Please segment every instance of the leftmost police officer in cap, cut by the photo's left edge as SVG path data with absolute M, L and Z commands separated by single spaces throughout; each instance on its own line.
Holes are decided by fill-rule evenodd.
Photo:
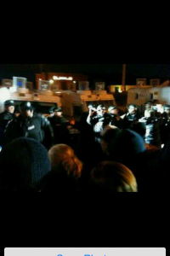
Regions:
M 8 122 L 15 118 L 14 115 L 14 101 L 4 102 L 5 111 L 0 113 L 0 146 L 4 144 L 4 131 Z

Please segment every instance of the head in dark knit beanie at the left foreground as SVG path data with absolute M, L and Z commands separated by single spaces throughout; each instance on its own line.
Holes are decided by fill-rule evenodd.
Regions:
M 18 138 L 0 154 L 0 188 L 8 191 L 33 189 L 51 170 L 48 151 L 31 138 Z

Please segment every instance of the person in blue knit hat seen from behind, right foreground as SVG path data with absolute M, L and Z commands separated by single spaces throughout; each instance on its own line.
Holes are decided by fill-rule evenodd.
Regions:
M 147 150 L 144 139 L 135 131 L 126 129 L 121 131 L 108 148 L 110 160 L 127 166 L 137 178 L 139 190 L 145 185 L 145 171 L 147 170 Z

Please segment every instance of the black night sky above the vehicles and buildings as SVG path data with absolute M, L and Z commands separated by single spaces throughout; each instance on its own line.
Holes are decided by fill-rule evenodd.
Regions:
M 35 79 L 40 64 L 0 64 L 0 78 L 26 76 Z M 122 64 L 43 64 L 44 72 L 84 73 L 90 76 L 122 82 Z M 170 78 L 170 64 L 127 64 L 127 83 L 136 78 Z

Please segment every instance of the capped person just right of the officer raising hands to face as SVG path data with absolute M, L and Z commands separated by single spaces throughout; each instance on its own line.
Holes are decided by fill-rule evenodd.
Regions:
M 108 113 L 111 115 L 111 124 L 114 125 L 119 129 L 123 128 L 123 120 L 119 115 L 119 110 L 116 106 L 111 106 L 108 108 Z

